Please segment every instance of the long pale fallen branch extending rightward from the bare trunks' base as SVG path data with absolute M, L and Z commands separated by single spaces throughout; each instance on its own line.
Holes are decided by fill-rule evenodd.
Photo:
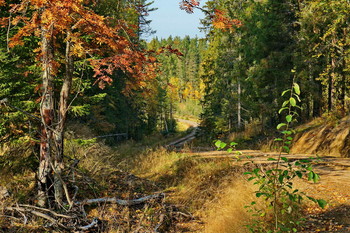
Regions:
M 133 199 L 133 200 L 121 200 L 117 199 L 115 197 L 105 197 L 105 198 L 96 198 L 96 199 L 88 199 L 85 201 L 77 201 L 75 204 L 77 205 L 88 205 L 88 204 L 96 204 L 96 203 L 115 203 L 118 205 L 123 205 L 123 206 L 133 206 L 133 205 L 138 205 L 141 203 L 144 203 L 146 201 L 152 200 L 152 199 L 157 199 L 157 198 L 164 198 L 164 193 L 157 193 L 145 197 L 141 197 L 138 199 Z

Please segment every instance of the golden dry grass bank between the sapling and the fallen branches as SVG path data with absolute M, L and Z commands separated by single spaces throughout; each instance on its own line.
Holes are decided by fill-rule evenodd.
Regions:
M 171 191 L 168 201 L 202 218 L 205 232 L 248 232 L 244 225 L 252 216 L 245 206 L 255 201 L 255 187 L 231 159 L 204 159 L 163 149 L 141 156 L 134 172 Z

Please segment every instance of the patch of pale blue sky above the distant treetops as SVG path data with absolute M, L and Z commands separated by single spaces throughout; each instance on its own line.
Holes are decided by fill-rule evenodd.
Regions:
M 188 14 L 179 8 L 180 0 L 154 0 L 151 7 L 158 10 L 150 12 L 148 19 L 152 20 L 151 27 L 157 32 L 147 39 L 152 37 L 168 38 L 171 36 L 184 37 L 204 37 L 204 34 L 199 31 L 200 19 L 204 17 L 200 10 L 195 10 L 193 14 Z M 201 6 L 205 0 L 200 1 Z

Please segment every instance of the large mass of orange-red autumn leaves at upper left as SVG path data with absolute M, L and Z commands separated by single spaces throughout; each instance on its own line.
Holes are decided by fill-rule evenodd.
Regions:
M 0 0 L 0 3 L 3 2 Z M 153 78 L 155 61 L 147 51 L 141 51 L 128 37 L 135 36 L 133 27 L 122 20 L 103 17 L 86 7 L 89 1 L 82 0 L 23 0 L 11 5 L 15 17 L 12 24 L 22 23 L 24 26 L 11 38 L 10 46 L 23 45 L 23 38 L 31 35 L 46 35 L 58 51 L 64 46 L 63 41 L 72 44 L 71 56 L 86 58 L 94 69 L 94 77 L 99 87 L 111 83 L 114 70 L 122 70 L 132 76 L 128 90 L 144 86 L 148 79 Z M 31 10 L 31 17 L 28 15 Z M 17 16 L 16 16 L 17 15 Z M 1 22 L 1 20 L 0 20 Z M 127 34 L 126 36 L 122 36 Z M 88 39 L 87 39 L 88 38 Z M 41 59 L 41 48 L 35 49 L 38 61 Z M 104 57 L 96 59 L 96 57 Z M 59 68 L 60 58 L 52 62 L 53 74 Z M 147 72 L 147 73 L 146 73 Z

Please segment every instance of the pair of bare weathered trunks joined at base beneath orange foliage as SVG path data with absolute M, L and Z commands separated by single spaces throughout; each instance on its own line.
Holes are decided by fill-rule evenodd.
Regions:
M 66 73 L 60 92 L 59 109 L 55 111 L 54 82 L 52 76 L 52 26 L 42 28 L 42 80 L 43 95 L 40 106 L 42 135 L 40 143 L 40 165 L 38 169 L 38 205 L 45 206 L 52 200 L 58 206 L 63 202 L 63 150 L 64 126 L 67 117 L 68 96 L 72 85 L 73 60 L 70 55 L 69 33 L 66 43 Z M 57 113 L 57 117 L 55 116 Z M 68 195 L 68 194 L 66 194 Z M 50 200 L 51 198 L 51 200 Z M 67 197 L 69 200 L 69 197 Z

